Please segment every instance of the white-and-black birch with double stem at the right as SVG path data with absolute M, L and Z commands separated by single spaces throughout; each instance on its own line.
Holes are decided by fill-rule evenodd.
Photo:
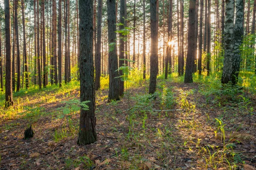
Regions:
M 226 0 L 222 84 L 231 83 L 232 85 L 236 85 L 238 82 L 241 56 L 239 47 L 244 35 L 243 9 L 243 0 L 236 0 L 236 20 L 234 25 L 234 0 Z

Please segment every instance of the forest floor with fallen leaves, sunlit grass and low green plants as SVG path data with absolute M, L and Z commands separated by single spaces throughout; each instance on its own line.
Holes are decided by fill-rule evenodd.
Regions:
M 16 93 L 0 110 L 0 170 L 256 170 L 255 94 L 171 78 L 155 96 L 140 80 L 129 96 L 130 108 L 96 91 L 98 141 L 79 146 L 78 82 Z

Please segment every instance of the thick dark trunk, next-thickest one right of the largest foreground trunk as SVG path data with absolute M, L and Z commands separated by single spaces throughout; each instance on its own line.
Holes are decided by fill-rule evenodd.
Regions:
M 118 79 L 118 58 L 116 49 L 116 0 L 107 0 L 108 13 L 108 71 L 109 71 L 109 91 L 108 102 L 119 100 Z

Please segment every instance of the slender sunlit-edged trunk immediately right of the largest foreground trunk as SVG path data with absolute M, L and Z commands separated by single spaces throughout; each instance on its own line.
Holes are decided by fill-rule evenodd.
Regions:
M 101 75 L 101 43 L 102 43 L 102 0 L 98 0 L 98 13 L 97 13 L 97 42 L 96 42 L 96 55 L 95 55 L 95 90 L 100 88 L 100 75 Z M 103 53 L 103 50 L 102 50 Z

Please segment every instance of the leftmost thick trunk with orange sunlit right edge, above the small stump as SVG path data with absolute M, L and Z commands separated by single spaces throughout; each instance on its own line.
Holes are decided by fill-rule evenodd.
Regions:
M 11 66 L 11 20 L 10 0 L 4 0 L 5 37 L 6 37 L 6 84 L 5 84 L 5 107 L 13 105 L 12 100 L 12 66 Z

